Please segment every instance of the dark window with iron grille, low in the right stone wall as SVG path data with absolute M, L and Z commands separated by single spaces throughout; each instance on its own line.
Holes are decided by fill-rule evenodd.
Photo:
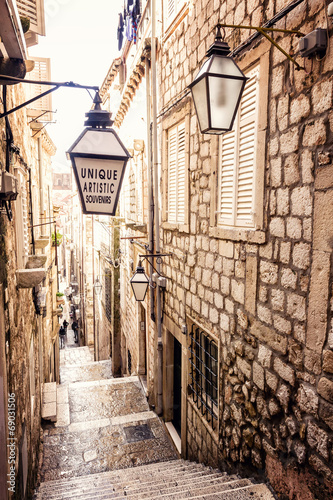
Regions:
M 190 388 L 193 401 L 207 422 L 217 426 L 218 348 L 197 325 L 190 332 Z

